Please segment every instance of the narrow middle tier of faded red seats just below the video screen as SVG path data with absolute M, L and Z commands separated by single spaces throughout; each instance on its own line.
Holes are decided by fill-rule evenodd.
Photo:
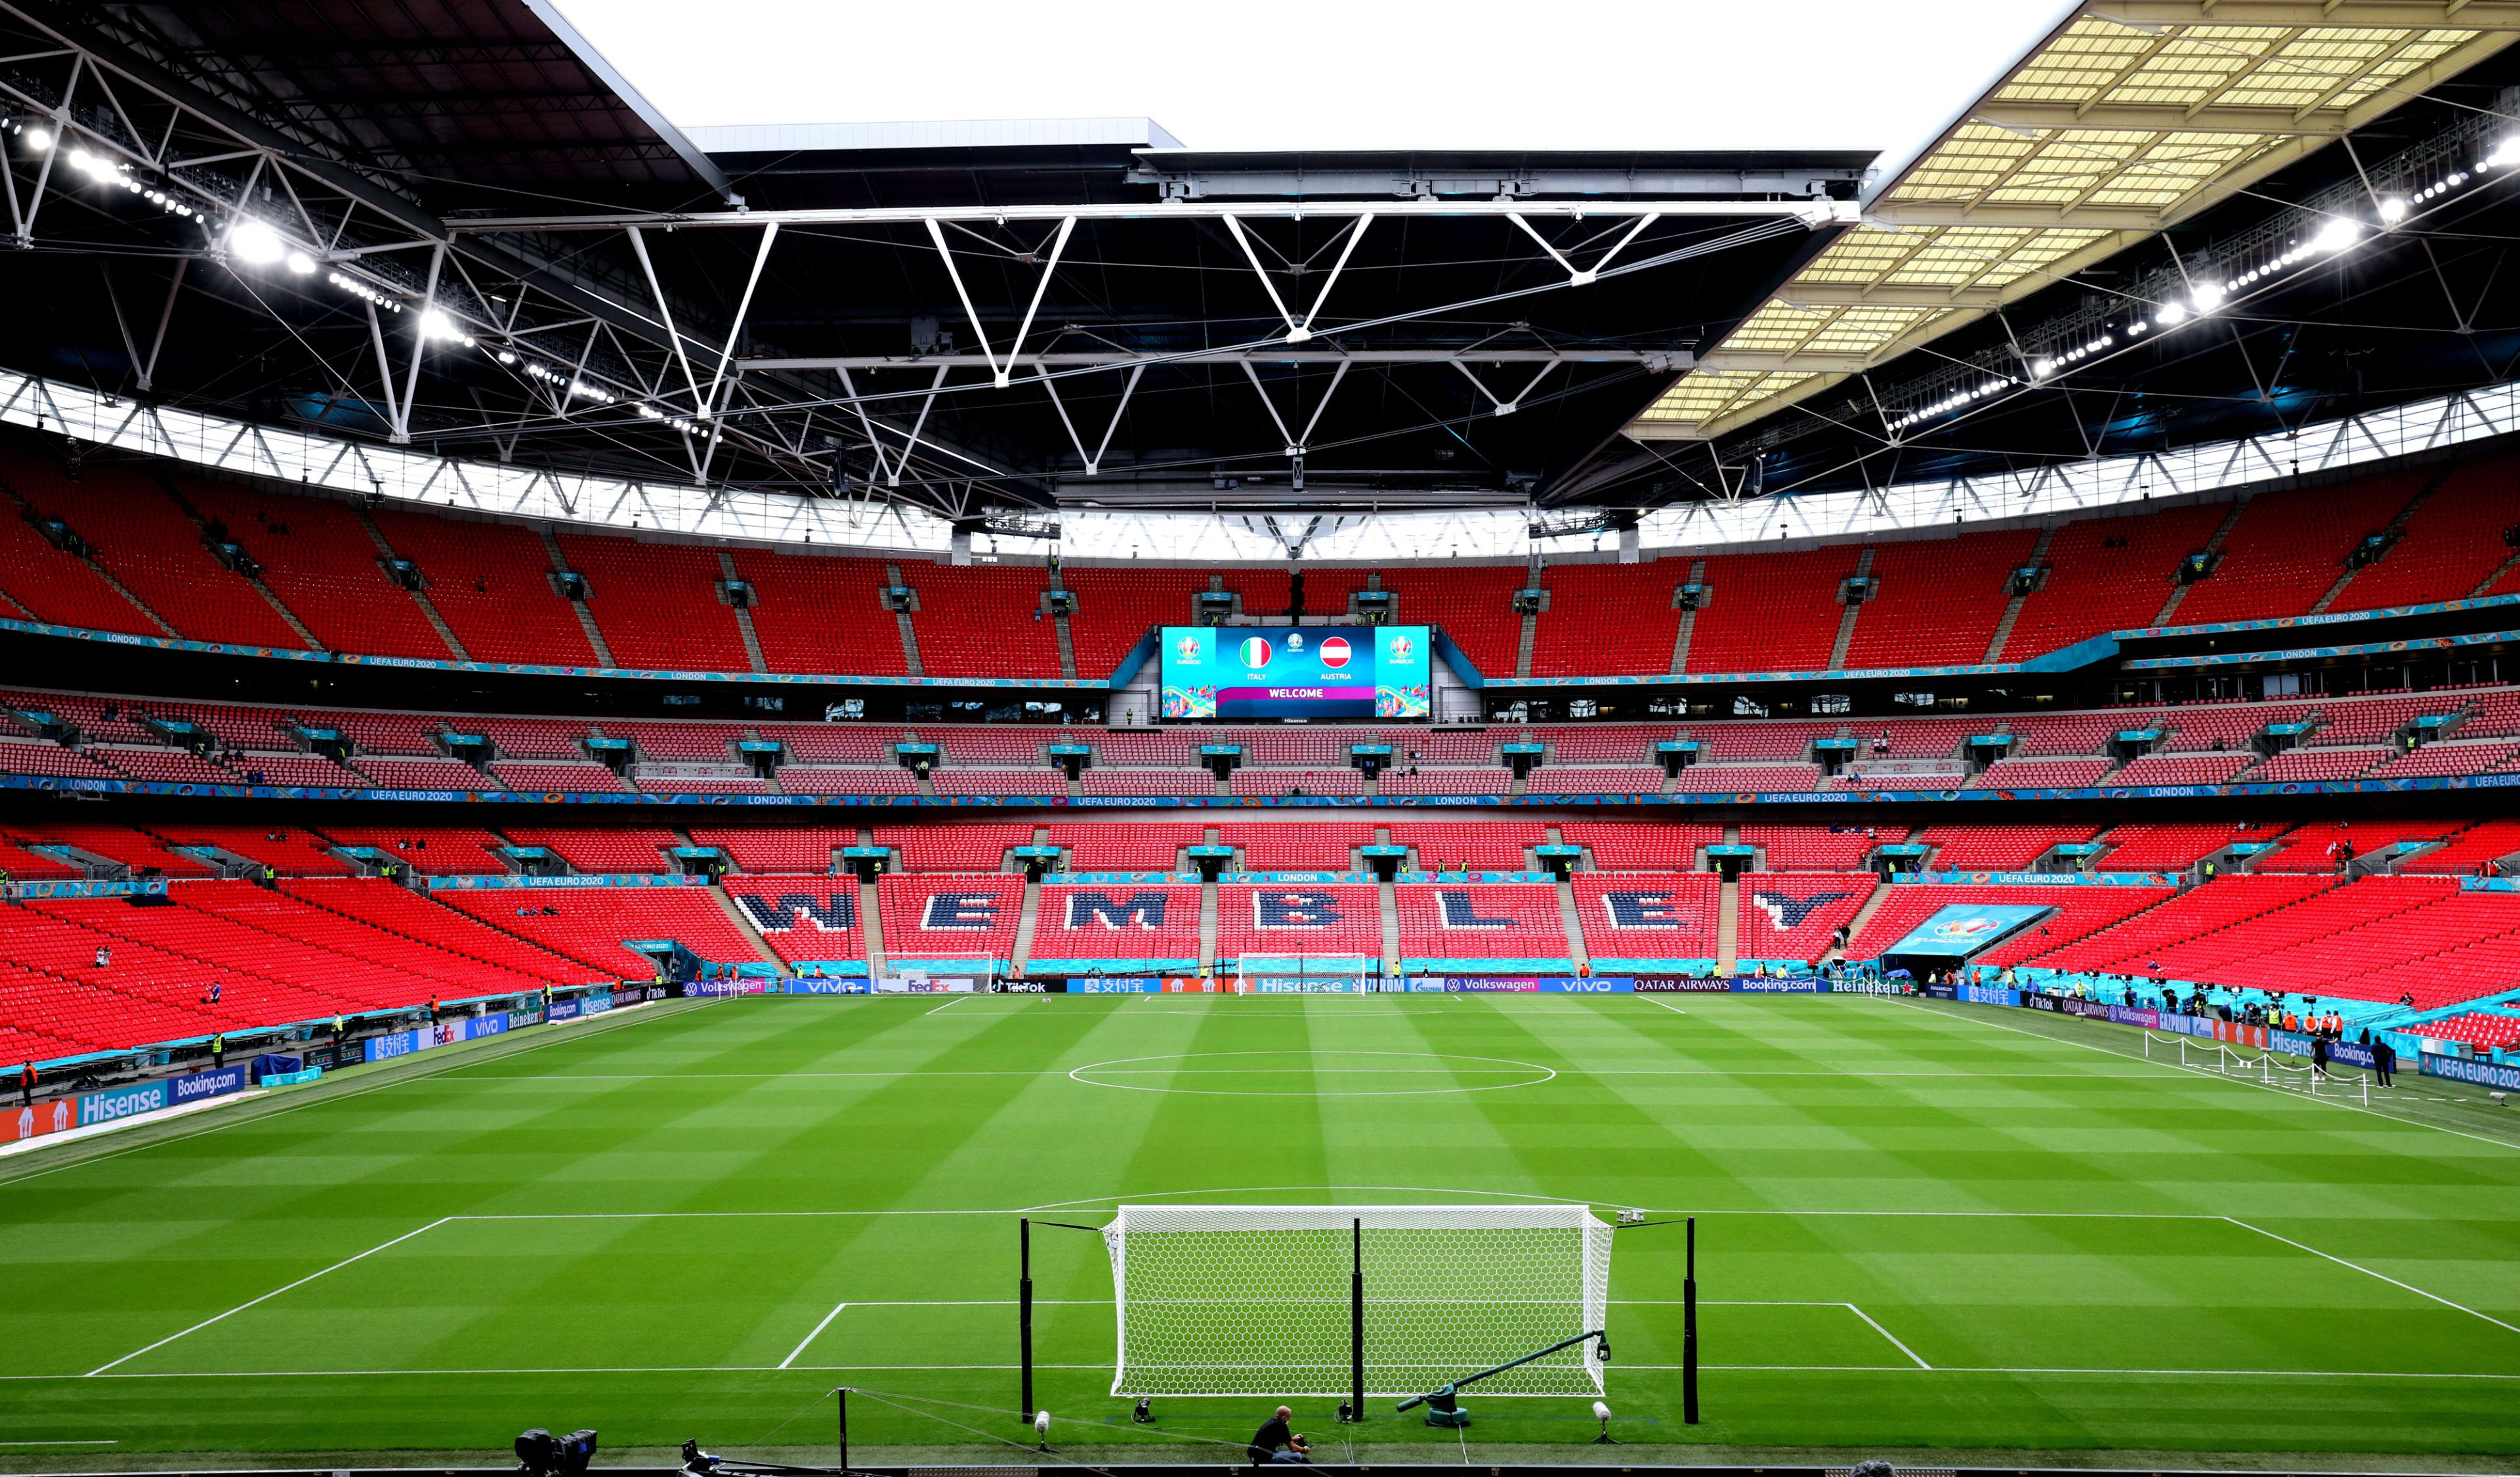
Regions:
M 345 791 L 1074 794 L 1245 802 L 2288 786 L 2510 774 L 2520 769 L 2520 736 L 2492 728 L 2520 726 L 2512 721 L 2520 711 L 2515 703 L 2515 688 L 2467 686 L 2318 701 L 1860 723 L 1688 718 L 1600 728 L 1520 723 L 1477 733 L 1389 723 L 1227 728 L 1220 736 L 1242 749 L 1242 766 L 1220 786 L 1194 761 L 1189 736 L 1179 731 L 1076 723 L 577 721 L 18 688 L 0 693 L 0 774 Z M 2145 738 L 2129 746 L 2124 733 Z M 912 741 L 937 751 L 922 771 L 905 769 L 895 756 L 897 744 Z M 1656 744 L 1673 741 L 1696 744 L 1698 761 L 1676 774 L 1635 761 L 1651 756 Z M 1051 764 L 1053 744 L 1089 751 L 1089 769 L 1079 781 Z M 1348 751 L 1368 744 L 1389 746 L 1396 769 L 1373 779 L 1351 769 Z M 1494 764 L 1504 744 L 1540 749 L 1520 781 Z M 1991 759 L 2013 746 L 2036 749 L 2039 756 Z M 756 759 L 764 761 L 759 769 Z M 1830 774 L 1824 761 L 1840 764 L 1840 771 Z

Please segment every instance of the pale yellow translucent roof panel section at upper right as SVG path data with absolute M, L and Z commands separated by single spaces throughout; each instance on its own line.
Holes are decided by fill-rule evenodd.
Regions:
M 2107 0 L 1862 197 L 1630 434 L 1714 439 L 2293 164 L 2520 35 L 2495 0 Z

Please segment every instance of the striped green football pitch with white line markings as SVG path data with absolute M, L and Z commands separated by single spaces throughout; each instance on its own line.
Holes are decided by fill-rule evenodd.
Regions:
M 1583 1202 L 1628 1459 L 2520 1449 L 2520 1127 L 1877 998 L 771 998 L 449 1049 L 0 1162 L 0 1464 L 456 1452 L 597 1427 L 859 1459 L 1023 1439 L 1016 1220 Z M 2379 1101 L 2386 1099 L 2386 1101 Z M 1200 1457 L 1257 1396 L 1109 1394 L 1101 1240 L 1036 1227 L 1053 1447 Z M 1358 1457 L 1575 1459 L 1590 1396 L 1376 1401 Z

